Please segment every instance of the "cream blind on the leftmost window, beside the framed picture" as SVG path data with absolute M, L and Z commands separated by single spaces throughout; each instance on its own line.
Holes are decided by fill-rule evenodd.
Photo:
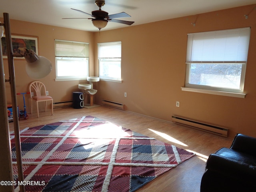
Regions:
M 89 43 L 55 40 L 55 56 L 89 58 Z

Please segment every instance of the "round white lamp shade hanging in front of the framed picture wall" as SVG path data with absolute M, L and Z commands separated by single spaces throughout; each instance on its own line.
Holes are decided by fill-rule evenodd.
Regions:
M 26 63 L 26 72 L 30 78 L 41 79 L 52 71 L 52 63 L 45 57 L 38 56 L 35 62 Z

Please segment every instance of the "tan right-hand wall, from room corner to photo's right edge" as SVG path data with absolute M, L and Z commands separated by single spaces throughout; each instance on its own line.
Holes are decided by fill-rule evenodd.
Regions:
M 256 5 L 96 33 L 95 42 L 122 41 L 122 83 L 100 81 L 96 101 L 121 102 L 126 110 L 171 121 L 172 115 L 256 136 Z M 253 11 L 252 11 L 253 10 Z M 250 13 L 248 19 L 245 14 Z M 191 23 L 196 23 L 194 27 Z M 251 27 L 246 98 L 184 92 L 187 34 Z M 95 46 L 95 51 L 97 51 Z M 95 54 L 95 63 L 97 63 Z M 97 71 L 97 70 L 96 70 Z M 97 75 L 97 74 L 96 74 Z M 127 98 L 124 97 L 127 92 Z M 180 107 L 176 107 L 176 101 Z

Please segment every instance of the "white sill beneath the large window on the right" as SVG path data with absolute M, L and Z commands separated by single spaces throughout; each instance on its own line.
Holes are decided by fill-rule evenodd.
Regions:
M 246 94 L 244 94 L 244 93 L 232 93 L 232 92 L 213 91 L 213 90 L 195 89 L 195 88 L 187 88 L 187 87 L 182 87 L 181 90 L 197 92 L 197 93 L 206 93 L 206 94 L 213 94 L 213 95 L 237 97 L 237 98 L 245 98 L 245 96 L 246 96 Z

